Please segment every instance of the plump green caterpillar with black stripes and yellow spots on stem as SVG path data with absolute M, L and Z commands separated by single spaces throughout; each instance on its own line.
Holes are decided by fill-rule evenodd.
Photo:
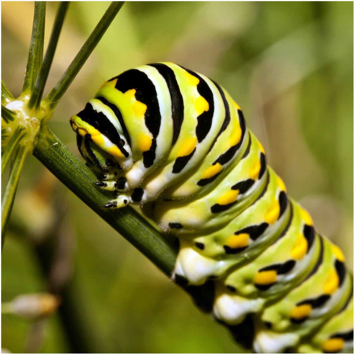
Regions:
M 258 353 L 353 352 L 353 277 L 267 165 L 219 84 L 171 62 L 105 82 L 70 119 L 77 147 L 115 191 L 179 239 L 172 278 L 209 283 L 213 316 Z M 242 334 L 248 325 L 251 334 Z

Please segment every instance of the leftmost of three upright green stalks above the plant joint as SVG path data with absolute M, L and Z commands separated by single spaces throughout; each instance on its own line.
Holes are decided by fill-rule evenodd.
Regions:
M 31 42 L 21 97 L 31 94 L 43 60 L 45 1 L 34 3 Z

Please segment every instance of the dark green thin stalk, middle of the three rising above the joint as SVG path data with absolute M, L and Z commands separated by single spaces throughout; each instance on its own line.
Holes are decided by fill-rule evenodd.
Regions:
M 43 95 L 43 91 L 44 91 L 44 86 L 45 86 L 45 83 L 47 82 L 48 73 L 49 73 L 50 66 L 53 61 L 55 49 L 56 49 L 57 43 L 58 43 L 59 34 L 62 29 L 64 17 L 65 17 L 66 11 L 68 9 L 68 6 L 69 6 L 69 2 L 67 2 L 67 1 L 61 1 L 59 3 L 58 11 L 56 13 L 56 17 L 55 17 L 54 24 L 53 24 L 52 33 L 51 33 L 51 36 L 49 39 L 48 48 L 47 48 L 46 54 L 44 56 L 41 69 L 39 71 L 39 75 L 36 79 L 34 89 L 31 94 L 31 98 L 29 99 L 29 102 L 28 102 L 28 107 L 30 109 L 33 107 L 35 109 L 39 108 L 40 101 L 42 99 L 42 95 Z

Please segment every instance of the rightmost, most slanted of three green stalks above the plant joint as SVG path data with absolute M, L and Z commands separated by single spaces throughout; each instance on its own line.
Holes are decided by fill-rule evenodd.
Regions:
M 54 110 L 58 104 L 61 97 L 66 92 L 67 88 L 71 82 L 76 77 L 77 73 L 80 71 L 81 67 L 84 65 L 88 59 L 91 52 L 94 50 L 99 40 L 106 32 L 110 23 L 113 21 L 119 10 L 121 9 L 124 1 L 111 2 L 104 16 L 101 18 L 94 31 L 91 33 L 87 41 L 84 43 L 83 47 L 80 49 L 79 53 L 73 59 L 68 69 L 65 71 L 63 76 L 60 78 L 55 87 L 51 90 L 48 96 L 43 100 L 43 105 L 48 110 Z

